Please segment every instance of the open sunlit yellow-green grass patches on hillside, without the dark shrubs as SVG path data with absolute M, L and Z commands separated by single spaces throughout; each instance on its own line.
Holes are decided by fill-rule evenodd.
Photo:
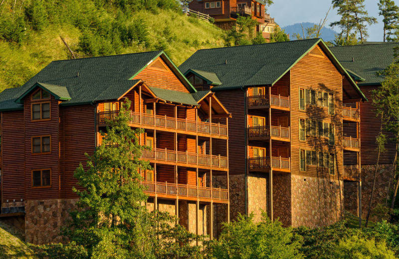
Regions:
M 159 14 L 143 10 L 137 12 L 136 17 L 146 20 L 152 46 L 156 46 L 160 39 L 168 42 L 167 52 L 177 65 L 200 48 L 223 46 L 222 38 L 225 32 L 207 21 L 198 20 L 193 23 L 187 16 L 169 10 L 161 10 Z M 167 26 L 173 39 L 164 37 Z M 72 49 L 76 49 L 81 31 L 72 24 L 50 25 L 42 32 L 29 31 L 27 40 L 20 46 L 0 41 L 0 91 L 21 86 L 52 60 L 67 59 L 68 53 L 59 38 L 60 35 Z M 193 44 L 194 41 L 197 44 Z M 124 48 L 122 53 L 149 50 L 155 50 L 155 47 L 143 49 L 134 45 Z

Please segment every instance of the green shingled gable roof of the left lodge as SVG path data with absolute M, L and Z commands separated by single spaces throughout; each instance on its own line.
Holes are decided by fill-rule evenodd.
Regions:
M 196 92 L 164 51 L 150 51 L 53 61 L 21 87 L 0 94 L 0 111 L 22 109 L 14 101 L 21 103 L 36 86 L 63 100 L 62 106 L 116 100 L 139 82 L 131 79 L 158 57 L 171 66 L 190 92 Z

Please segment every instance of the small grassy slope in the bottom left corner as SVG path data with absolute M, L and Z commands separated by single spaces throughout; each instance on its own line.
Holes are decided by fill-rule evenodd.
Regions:
M 0 221 L 0 259 L 36 259 L 20 238 L 21 233 Z

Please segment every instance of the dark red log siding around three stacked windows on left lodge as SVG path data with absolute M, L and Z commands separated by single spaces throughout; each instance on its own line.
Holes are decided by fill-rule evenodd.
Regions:
M 32 92 L 34 93 L 34 92 Z M 25 199 L 57 199 L 60 189 L 60 171 L 59 171 L 59 102 L 50 95 L 50 120 L 39 121 L 32 120 L 31 104 L 43 103 L 46 100 L 31 101 L 32 94 L 24 99 L 24 171 L 25 171 Z M 94 112 L 92 116 L 94 115 Z M 50 135 L 50 153 L 40 154 L 32 153 L 32 137 Z M 32 171 L 50 169 L 50 186 L 33 187 Z

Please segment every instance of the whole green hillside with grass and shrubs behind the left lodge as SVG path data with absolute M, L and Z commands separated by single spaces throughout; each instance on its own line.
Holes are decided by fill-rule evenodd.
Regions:
M 152 0 L 158 7 L 116 2 L 0 1 L 0 91 L 22 85 L 52 60 L 71 58 L 60 36 L 76 58 L 164 49 L 177 65 L 198 49 L 224 44 L 223 30 L 185 16 L 175 0 Z

